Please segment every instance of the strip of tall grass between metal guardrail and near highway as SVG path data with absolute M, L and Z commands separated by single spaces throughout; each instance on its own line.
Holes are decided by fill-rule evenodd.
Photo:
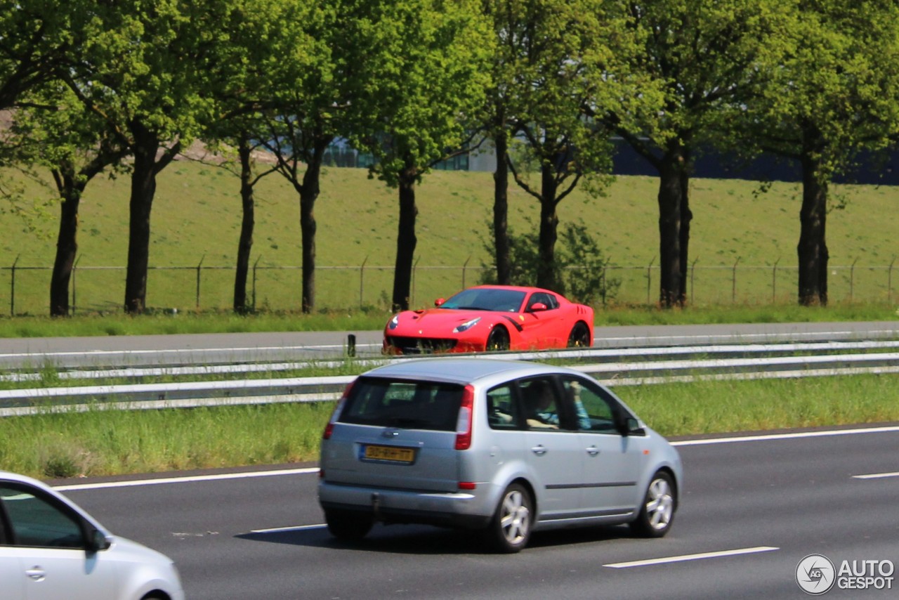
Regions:
M 616 390 L 666 436 L 899 421 L 892 375 Z M 47 413 L 0 419 L 4 469 L 39 478 L 316 461 L 331 403 Z

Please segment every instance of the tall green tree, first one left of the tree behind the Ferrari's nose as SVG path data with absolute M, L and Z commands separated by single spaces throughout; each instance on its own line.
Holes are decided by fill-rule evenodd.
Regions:
M 316 214 L 325 151 L 349 128 L 350 90 L 360 48 L 352 31 L 368 12 L 360 0 L 292 0 L 282 3 L 278 30 L 269 38 L 273 58 L 261 74 L 266 94 L 263 145 L 277 164 L 275 170 L 293 186 L 299 200 L 302 246 L 300 308 L 316 307 Z M 378 4 L 378 3 L 372 3 Z

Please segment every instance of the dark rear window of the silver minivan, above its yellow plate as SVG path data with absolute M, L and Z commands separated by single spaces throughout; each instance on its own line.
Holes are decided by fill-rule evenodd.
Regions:
M 360 377 L 338 421 L 354 425 L 455 431 L 463 386 Z

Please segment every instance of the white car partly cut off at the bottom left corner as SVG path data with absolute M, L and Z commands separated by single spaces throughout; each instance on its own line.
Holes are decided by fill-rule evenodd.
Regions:
M 36 479 L 0 470 L 3 600 L 183 600 L 174 562 L 112 535 Z

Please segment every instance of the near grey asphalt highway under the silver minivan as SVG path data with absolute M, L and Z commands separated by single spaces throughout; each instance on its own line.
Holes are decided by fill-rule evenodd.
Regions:
M 686 481 L 668 537 L 636 539 L 627 527 L 536 533 L 511 556 L 417 525 L 336 542 L 316 502 L 315 465 L 58 483 L 79 486 L 62 489 L 113 532 L 171 556 L 193 600 L 799 599 L 797 565 L 809 554 L 836 569 L 899 563 L 899 426 L 676 443 Z M 892 598 L 892 583 L 834 586 L 826 597 Z

